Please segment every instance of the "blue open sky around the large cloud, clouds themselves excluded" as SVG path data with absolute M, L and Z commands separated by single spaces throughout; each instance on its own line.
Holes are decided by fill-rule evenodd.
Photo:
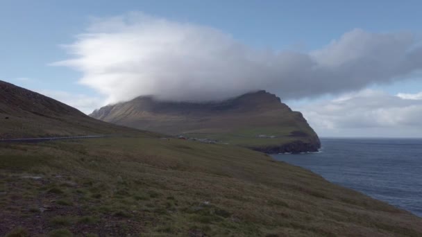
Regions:
M 107 97 L 96 87 L 78 83 L 86 71 L 57 67 L 51 63 L 72 58 L 62 44 L 74 44 L 76 35 L 86 33 L 93 18 L 108 19 L 142 12 L 179 24 L 194 24 L 220 30 L 251 49 L 259 51 L 310 52 L 323 49 L 345 33 L 360 28 L 367 33 L 412 33 L 421 42 L 421 1 L 19 1 L 0 3 L 0 80 L 43 92 L 72 104 L 84 112 L 102 105 Z M 386 96 L 418 94 L 422 91 L 419 73 L 414 71 L 394 83 L 368 83 L 364 88 L 341 89 L 310 98 L 287 100 L 294 109 L 308 109 L 313 103 L 329 106 L 342 93 L 361 89 L 383 91 Z M 271 91 L 278 94 L 278 90 Z M 65 94 L 67 93 L 67 94 Z M 78 94 L 78 103 L 69 94 Z M 283 94 L 278 96 L 284 97 Z M 81 106 L 85 98 L 95 98 Z M 417 96 L 416 96 L 417 97 Z M 416 98 L 415 97 L 415 98 Z M 413 101 L 413 100 L 412 100 Z M 419 103 L 419 102 L 418 102 Z M 380 105 L 382 106 L 382 105 Z M 413 103 L 409 106 L 415 106 Z M 419 104 L 417 104 L 419 106 Z M 390 108 L 391 109 L 391 108 Z M 314 113 L 312 111 L 312 113 Z M 312 114 L 310 113 L 310 114 Z M 307 113 L 304 112 L 305 116 Z M 321 114 L 320 114 L 321 116 Z M 330 120 L 329 118 L 324 117 Z M 308 121 L 326 136 L 343 134 L 345 128 L 324 127 L 311 115 Z M 402 121 L 398 119 L 398 121 Z M 343 123 L 341 123 L 343 124 Z M 414 123 L 411 123 L 414 126 Z M 416 124 L 419 126 L 419 124 Z M 415 137 L 414 128 L 380 125 L 375 133 L 387 137 Z M 346 126 L 347 127 L 347 126 Z M 417 127 L 418 129 L 420 127 Z M 347 131 L 350 130 L 349 128 Z M 344 130 L 346 131 L 346 130 Z M 373 132 L 371 132 L 373 134 Z M 377 134 L 378 134 L 377 133 Z M 346 132 L 346 136 L 360 136 Z M 362 135 L 362 136 L 361 136 Z

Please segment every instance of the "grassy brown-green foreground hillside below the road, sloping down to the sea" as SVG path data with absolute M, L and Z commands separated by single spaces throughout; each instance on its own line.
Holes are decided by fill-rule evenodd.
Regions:
M 237 146 L 0 144 L 0 236 L 421 236 L 422 220 Z

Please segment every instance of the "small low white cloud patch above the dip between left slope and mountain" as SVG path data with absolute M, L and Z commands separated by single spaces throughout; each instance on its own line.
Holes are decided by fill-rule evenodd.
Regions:
M 40 94 L 49 96 L 71 107 L 76 107 L 85 114 L 90 114 L 94 109 L 97 109 L 104 104 L 104 98 L 87 96 L 84 94 L 73 94 L 66 91 L 56 90 L 35 90 Z

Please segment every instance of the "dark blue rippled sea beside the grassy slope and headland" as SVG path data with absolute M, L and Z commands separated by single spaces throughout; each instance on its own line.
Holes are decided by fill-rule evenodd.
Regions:
M 422 139 L 321 139 L 318 153 L 273 155 L 422 217 Z

